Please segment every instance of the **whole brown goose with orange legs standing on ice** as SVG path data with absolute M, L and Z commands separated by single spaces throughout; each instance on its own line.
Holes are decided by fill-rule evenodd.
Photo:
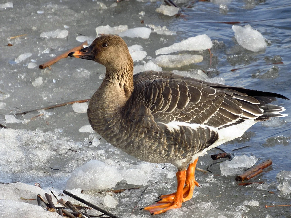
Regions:
M 283 107 L 269 104 L 276 97 L 288 99 L 280 94 L 207 83 L 171 72 L 133 75 L 127 45 L 116 35 L 101 35 L 91 46 L 69 56 L 106 67 L 105 78 L 88 106 L 92 128 L 140 160 L 169 162 L 178 168 L 179 194 L 162 196 L 162 201 L 145 208 L 154 214 L 191 199 L 198 185 L 196 159 L 207 150 L 241 136 L 256 121 L 285 116 L 280 114 Z

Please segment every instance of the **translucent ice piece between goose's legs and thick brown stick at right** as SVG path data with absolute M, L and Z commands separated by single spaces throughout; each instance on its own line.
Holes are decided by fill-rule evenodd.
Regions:
M 258 158 L 255 156 L 235 156 L 230 161 L 224 161 L 220 164 L 221 174 L 224 176 L 234 176 L 236 174 L 242 173 L 243 169 L 252 167 Z

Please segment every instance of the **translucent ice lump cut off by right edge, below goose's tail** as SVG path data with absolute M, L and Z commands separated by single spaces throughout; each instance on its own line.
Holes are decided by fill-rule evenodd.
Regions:
M 280 194 L 290 198 L 291 194 L 291 171 L 282 170 L 277 174 L 277 189 Z

